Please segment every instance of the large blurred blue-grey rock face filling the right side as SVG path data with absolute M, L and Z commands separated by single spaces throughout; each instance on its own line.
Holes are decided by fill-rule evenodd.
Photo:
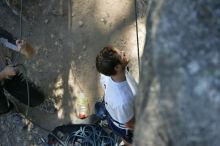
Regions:
M 220 143 L 220 1 L 148 1 L 137 146 Z

